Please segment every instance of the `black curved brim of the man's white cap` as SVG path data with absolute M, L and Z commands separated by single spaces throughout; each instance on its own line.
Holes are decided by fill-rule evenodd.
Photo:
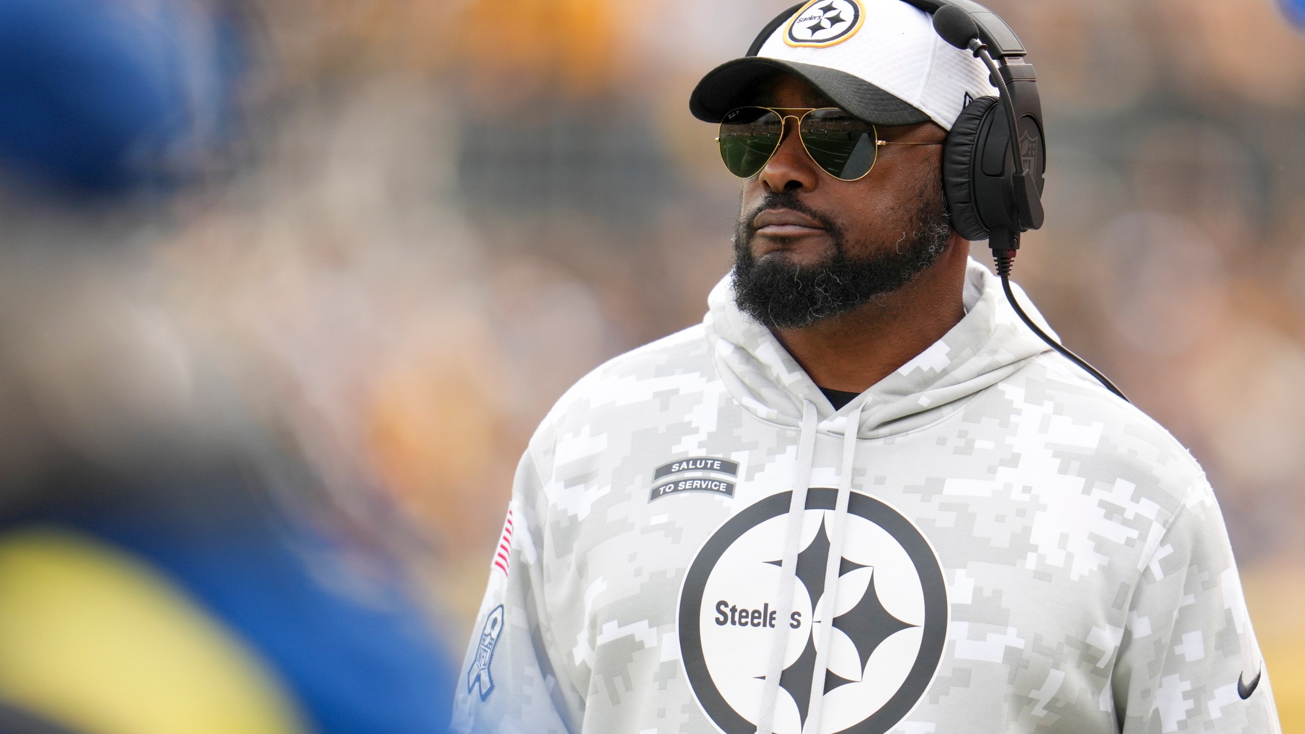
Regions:
M 834 104 L 867 123 L 914 125 L 929 121 L 929 115 L 847 72 L 763 56 L 735 59 L 710 71 L 689 95 L 689 111 L 706 123 L 719 123 L 726 112 L 756 104 L 757 99 L 752 97 L 754 85 L 776 71 L 805 81 Z

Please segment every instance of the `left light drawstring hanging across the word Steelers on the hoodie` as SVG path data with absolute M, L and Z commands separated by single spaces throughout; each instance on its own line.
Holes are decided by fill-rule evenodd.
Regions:
M 803 516 L 806 513 L 806 488 L 810 486 L 812 464 L 816 461 L 816 404 L 803 400 L 803 427 L 797 439 L 797 470 L 793 473 L 793 495 L 788 503 L 788 529 L 784 537 L 784 556 L 779 566 L 779 594 L 775 597 L 779 619 L 788 619 L 793 611 L 793 585 L 797 581 L 797 546 L 803 539 Z M 784 670 L 784 652 L 788 650 L 788 624 L 776 624 L 770 643 L 770 662 L 761 688 L 761 712 L 757 734 L 774 734 L 775 699 L 779 696 L 779 675 Z

